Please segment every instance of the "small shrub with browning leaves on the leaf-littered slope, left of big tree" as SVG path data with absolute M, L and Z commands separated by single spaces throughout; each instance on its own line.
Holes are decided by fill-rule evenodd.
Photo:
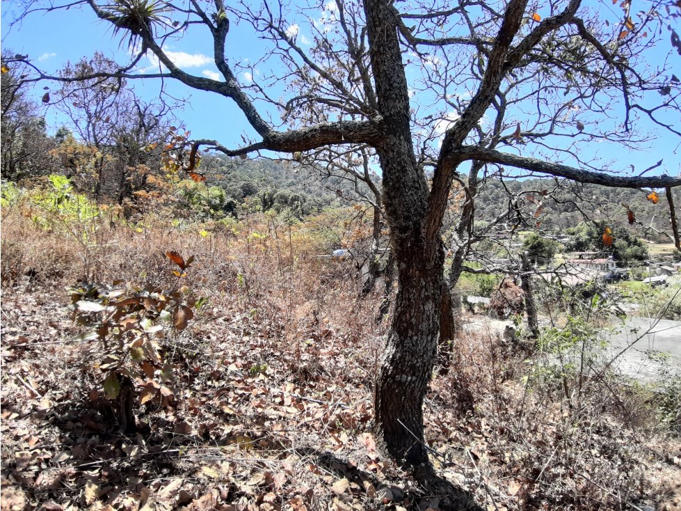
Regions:
M 113 285 L 79 283 L 69 290 L 74 320 L 84 331 L 79 338 L 99 343 L 101 358 L 93 368 L 102 371 L 102 388 L 109 400 L 118 400 L 122 430 L 136 430 L 134 403 L 175 400 L 172 390 L 173 364 L 166 339 L 177 337 L 194 317 L 194 310 L 206 303 L 181 286 L 193 256 L 184 260 L 176 252 L 166 257 L 177 265 L 173 285 Z M 175 349 L 177 349 L 175 347 Z

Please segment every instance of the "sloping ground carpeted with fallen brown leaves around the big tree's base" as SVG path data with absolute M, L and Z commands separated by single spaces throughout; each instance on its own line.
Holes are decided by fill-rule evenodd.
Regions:
M 678 509 L 678 441 L 641 446 L 604 417 L 567 443 L 560 407 L 520 420 L 522 359 L 489 336 L 455 346 L 460 370 L 433 381 L 426 437 L 454 487 L 424 490 L 368 432 L 381 327 L 312 300 L 278 315 L 215 294 L 168 341 L 175 401 L 139 406 L 122 434 L 62 294 L 3 288 L 3 510 Z

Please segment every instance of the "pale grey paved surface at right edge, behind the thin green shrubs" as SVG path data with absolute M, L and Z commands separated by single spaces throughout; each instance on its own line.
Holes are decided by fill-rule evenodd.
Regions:
M 681 368 L 681 321 L 629 317 L 616 328 L 614 335 L 603 332 L 603 336 L 610 341 L 614 354 L 629 347 L 616 361 L 621 372 L 642 382 L 655 381 L 660 364 L 649 356 L 655 352 L 667 353 L 668 362 Z

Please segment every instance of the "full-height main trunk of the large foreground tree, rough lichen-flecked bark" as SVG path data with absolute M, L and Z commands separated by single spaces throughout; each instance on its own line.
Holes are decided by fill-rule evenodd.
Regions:
M 428 185 L 412 146 L 406 76 L 395 72 L 403 68 L 396 17 L 381 0 L 367 0 L 364 10 L 385 134 L 376 152 L 398 265 L 395 310 L 374 393 L 374 435 L 385 453 L 419 466 L 428 463 L 422 409 L 437 352 L 444 251 L 423 235 Z

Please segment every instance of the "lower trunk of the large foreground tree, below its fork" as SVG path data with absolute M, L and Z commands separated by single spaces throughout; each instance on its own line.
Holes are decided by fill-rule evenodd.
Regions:
M 428 465 L 422 408 L 438 349 L 442 265 L 442 258 L 433 265 L 415 248 L 412 260 L 399 266 L 395 312 L 374 393 L 376 444 L 407 466 Z

